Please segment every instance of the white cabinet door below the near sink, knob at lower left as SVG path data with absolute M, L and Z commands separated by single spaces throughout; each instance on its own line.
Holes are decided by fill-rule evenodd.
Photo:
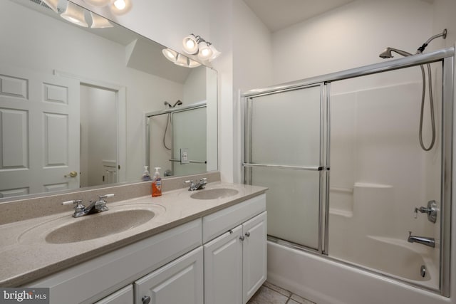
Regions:
M 202 304 L 203 296 L 202 246 L 135 281 L 137 304 Z

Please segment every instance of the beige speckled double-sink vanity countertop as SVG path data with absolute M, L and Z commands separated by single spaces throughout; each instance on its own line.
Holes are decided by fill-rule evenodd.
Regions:
M 98 239 L 74 243 L 47 243 L 45 236 L 59 226 L 81 221 L 88 216 L 73 218 L 73 209 L 61 214 L 41 216 L 0 225 L 0 286 L 18 287 L 64 268 L 88 261 L 135 241 L 159 234 L 188 221 L 238 204 L 266 191 L 264 187 L 214 182 L 206 189 L 232 188 L 234 196 L 223 199 L 192 199 L 187 189 L 164 192 L 162 196 L 141 196 L 109 203 L 110 210 L 88 216 L 103 216 L 123 209 L 149 209 L 155 213 L 150 221 L 132 229 Z M 198 190 L 204 191 L 204 190 Z M 38 206 L 33 206 L 38 208 Z

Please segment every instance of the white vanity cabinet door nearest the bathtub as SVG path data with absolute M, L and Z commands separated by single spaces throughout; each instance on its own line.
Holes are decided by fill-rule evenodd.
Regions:
M 266 211 L 242 224 L 243 303 L 266 281 Z

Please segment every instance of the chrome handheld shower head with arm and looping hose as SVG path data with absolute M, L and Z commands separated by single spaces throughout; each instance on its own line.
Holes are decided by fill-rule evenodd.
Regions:
M 430 41 L 434 40 L 435 38 L 447 38 L 447 29 L 445 28 L 442 33 L 438 33 L 437 35 L 432 36 L 431 38 L 427 39 L 425 43 L 423 43 L 423 46 L 420 46 L 418 50 L 416 51 L 415 55 L 418 55 L 420 53 L 423 53 L 425 50 L 426 46 L 430 43 Z M 407 56 L 413 56 L 412 53 L 408 53 L 403 50 L 399 50 L 398 48 L 385 48 L 383 52 L 380 53 L 380 58 L 393 58 L 392 52 L 398 53 L 399 55 L 402 55 L 404 57 Z M 427 81 L 428 81 L 428 86 L 429 86 L 429 107 L 430 107 L 430 120 L 431 120 L 431 127 L 432 127 L 432 139 L 430 142 L 429 147 L 425 147 L 423 143 L 423 116 L 424 116 L 424 107 L 425 107 L 425 95 L 426 95 L 426 75 L 425 75 L 425 69 L 423 68 L 423 65 L 420 65 L 421 68 L 421 75 L 423 75 L 423 90 L 421 93 L 421 112 L 420 112 L 420 146 L 423 150 L 425 151 L 430 151 L 432 147 L 434 147 L 435 144 L 435 115 L 434 115 L 434 100 L 432 99 L 432 75 L 431 75 L 431 70 L 430 70 L 430 65 L 429 63 L 427 65 Z

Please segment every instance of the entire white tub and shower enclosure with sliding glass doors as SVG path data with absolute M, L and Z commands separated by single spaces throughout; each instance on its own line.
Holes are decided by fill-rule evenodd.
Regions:
M 244 180 L 269 187 L 268 281 L 318 304 L 452 303 L 454 53 L 243 94 Z

